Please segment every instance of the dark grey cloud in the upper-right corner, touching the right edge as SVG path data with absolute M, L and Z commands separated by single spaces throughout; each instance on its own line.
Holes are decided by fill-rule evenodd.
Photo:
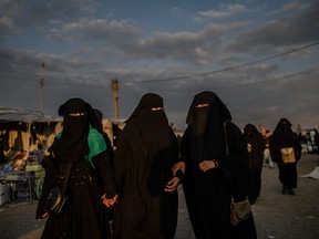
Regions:
M 254 30 L 243 33 L 229 49 L 234 51 L 251 51 L 254 48 L 271 48 L 294 45 L 318 41 L 319 39 L 319 1 L 313 1 L 301 13 L 281 17 Z

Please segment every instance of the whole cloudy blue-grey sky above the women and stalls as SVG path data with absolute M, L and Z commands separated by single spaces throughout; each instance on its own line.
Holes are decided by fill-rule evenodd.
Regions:
M 184 129 L 213 91 L 239 127 L 319 124 L 319 0 L 1 0 L 0 32 L 3 107 L 82 97 L 114 118 L 117 79 L 122 119 L 154 92 Z

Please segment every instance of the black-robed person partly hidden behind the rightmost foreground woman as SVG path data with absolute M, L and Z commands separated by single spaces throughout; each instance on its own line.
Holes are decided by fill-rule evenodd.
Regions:
M 265 141 L 253 124 L 247 124 L 244 127 L 244 136 L 247 141 L 249 155 L 250 186 L 248 190 L 248 199 L 251 205 L 260 195 L 261 189 L 261 170 L 264 164 Z

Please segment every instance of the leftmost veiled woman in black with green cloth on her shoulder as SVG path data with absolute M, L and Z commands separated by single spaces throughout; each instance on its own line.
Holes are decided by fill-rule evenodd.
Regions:
M 82 98 L 68 100 L 60 106 L 59 115 L 63 116 L 63 129 L 49 149 L 43 191 L 35 214 L 37 219 L 49 216 L 41 238 L 111 238 L 103 204 L 114 205 L 117 195 L 101 123 Z M 49 214 L 45 201 L 50 189 L 62 187 L 70 163 L 66 205 L 60 214 Z

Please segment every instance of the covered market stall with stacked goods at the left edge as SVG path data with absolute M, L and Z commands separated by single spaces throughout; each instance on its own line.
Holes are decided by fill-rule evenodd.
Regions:
M 61 117 L 40 112 L 0 108 L 1 150 L 0 205 L 37 199 L 37 184 L 44 176 L 41 166 L 53 143 Z

